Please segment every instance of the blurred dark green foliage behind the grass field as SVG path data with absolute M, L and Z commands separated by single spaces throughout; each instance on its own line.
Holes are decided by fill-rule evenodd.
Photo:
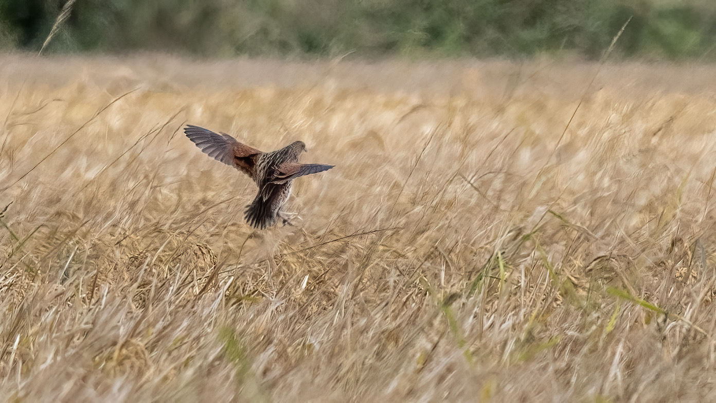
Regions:
M 0 49 L 37 50 L 66 0 L 0 0 Z M 710 0 L 79 0 L 49 52 L 714 54 Z

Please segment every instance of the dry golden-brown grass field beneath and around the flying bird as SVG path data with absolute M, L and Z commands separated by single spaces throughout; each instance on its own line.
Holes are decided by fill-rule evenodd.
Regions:
M 0 401 L 715 400 L 716 67 L 598 70 L 0 57 Z

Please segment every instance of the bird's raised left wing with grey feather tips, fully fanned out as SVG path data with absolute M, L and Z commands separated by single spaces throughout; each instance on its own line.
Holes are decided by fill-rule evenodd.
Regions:
M 201 151 L 217 161 L 226 163 L 243 171 L 253 178 L 253 168 L 258 156 L 262 154 L 256 148 L 239 143 L 228 134 L 218 134 L 195 125 L 187 125 L 184 133 Z

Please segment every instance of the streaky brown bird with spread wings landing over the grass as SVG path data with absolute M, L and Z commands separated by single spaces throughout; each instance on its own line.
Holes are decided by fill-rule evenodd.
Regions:
M 239 143 L 226 133 L 218 134 L 194 125 L 187 125 L 184 133 L 201 151 L 235 167 L 256 182 L 258 194 L 246 206 L 244 217 L 251 227 L 259 229 L 276 224 L 277 217 L 281 217 L 284 224 L 291 224 L 281 214 L 281 208 L 291 195 L 294 179 L 334 167 L 320 163 L 299 163 L 301 152 L 306 151 L 303 141 L 294 141 L 280 150 L 264 153 Z

